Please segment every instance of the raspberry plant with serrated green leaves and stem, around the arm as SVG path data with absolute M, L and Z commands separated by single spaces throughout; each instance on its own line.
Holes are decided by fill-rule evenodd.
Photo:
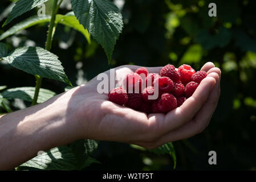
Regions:
M 47 1 L 19 0 L 7 16 L 3 27 L 18 16 Z M 123 20 L 119 9 L 109 0 L 71 0 L 72 11 L 61 15 L 58 14 L 58 9 L 62 1 L 53 0 L 51 15 L 40 17 L 37 15 L 31 16 L 15 24 L 0 35 L 1 41 L 18 31 L 25 30 L 39 23 L 49 22 L 44 48 L 18 47 L 8 53 L 7 46 L 4 43 L 0 43 L 0 60 L 5 60 L 11 66 L 34 75 L 36 80 L 35 88 L 21 87 L 6 89 L 6 86 L 0 86 L 0 90 L 4 90 L 0 93 L 0 107 L 6 113 L 13 111 L 9 102 L 13 98 L 29 101 L 31 105 L 35 105 L 53 97 L 55 95 L 54 92 L 40 88 L 43 77 L 62 81 L 72 86 L 58 56 L 50 52 L 52 38 L 54 38 L 55 28 L 58 24 L 63 24 L 81 32 L 89 44 L 91 43 L 92 36 L 103 47 L 108 63 L 111 62 L 116 40 L 119 38 L 123 29 Z M 55 147 L 22 164 L 17 169 L 83 169 L 92 163 L 99 163 L 96 159 L 92 158 L 92 153 L 96 150 L 97 144 L 98 142 L 95 140 L 84 139 L 67 146 Z M 141 147 L 133 147 L 144 150 Z M 166 143 L 156 150 L 151 151 L 156 154 L 170 154 L 175 167 L 176 156 L 172 143 Z

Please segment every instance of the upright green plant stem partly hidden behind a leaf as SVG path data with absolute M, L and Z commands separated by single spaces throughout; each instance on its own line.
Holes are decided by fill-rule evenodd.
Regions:
M 62 1 L 60 1 L 61 3 Z M 58 0 L 54 0 L 54 3 L 52 5 L 52 12 L 51 12 L 51 20 L 50 20 L 50 24 L 49 24 L 49 28 L 48 28 L 48 34 L 47 34 L 47 39 L 46 39 L 46 47 L 45 49 L 47 51 L 51 50 L 51 42 L 52 42 L 52 37 L 54 34 L 54 27 L 55 27 L 55 18 L 56 18 L 56 13 L 59 9 L 60 3 L 57 7 L 57 3 Z M 42 79 L 43 77 L 40 77 L 39 75 L 35 75 L 36 78 L 36 84 L 35 84 L 35 94 L 34 94 L 34 98 L 32 100 L 32 106 L 36 105 L 36 102 L 38 100 L 38 94 L 39 94 L 39 90 L 40 90 L 40 86 L 42 84 Z

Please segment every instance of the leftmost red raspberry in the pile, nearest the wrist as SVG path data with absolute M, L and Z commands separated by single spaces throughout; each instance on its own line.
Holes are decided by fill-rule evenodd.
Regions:
M 117 87 L 109 91 L 108 99 L 116 104 L 124 105 L 128 101 L 127 92 L 125 89 Z

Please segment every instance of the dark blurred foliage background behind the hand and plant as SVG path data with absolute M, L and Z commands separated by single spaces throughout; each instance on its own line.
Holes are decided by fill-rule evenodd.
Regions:
M 14 1 L 1 0 L 0 24 Z M 73 85 L 83 84 L 109 68 L 123 64 L 145 67 L 178 67 L 190 64 L 198 70 L 207 61 L 221 68 L 221 97 L 207 129 L 195 137 L 173 142 L 178 170 L 256 170 L 256 1 L 115 0 L 124 28 L 113 51 L 112 62 L 93 38 L 58 24 L 51 51 L 59 56 Z M 217 5 L 217 17 L 209 17 L 209 3 Z M 51 6 L 51 1 L 46 7 Z M 7 11 L 6 11 L 7 9 Z M 50 14 L 50 8 L 46 13 Z M 71 11 L 64 0 L 59 14 Z M 17 22 L 35 15 L 37 9 L 19 16 Z M 46 23 L 2 40 L 9 52 L 20 46 L 44 47 Z M 8 88 L 35 86 L 35 78 L 0 61 L 0 85 Z M 42 88 L 64 92 L 62 82 L 43 79 Z M 20 100 L 13 109 L 26 106 Z M 217 165 L 208 164 L 208 152 L 217 152 Z M 91 169 L 173 170 L 170 155 L 137 150 L 129 144 L 100 142 L 94 157 L 101 164 Z

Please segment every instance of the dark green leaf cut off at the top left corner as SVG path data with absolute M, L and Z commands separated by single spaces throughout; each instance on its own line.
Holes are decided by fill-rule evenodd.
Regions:
M 7 19 L 5 23 L 3 23 L 3 26 L 10 23 L 11 20 L 17 18 L 19 15 L 22 15 L 23 13 L 34 9 L 34 7 L 37 7 L 38 5 L 41 5 L 46 1 L 48 0 L 19 0 L 17 3 L 15 3 L 15 6 L 11 10 L 10 14 L 7 16 Z

